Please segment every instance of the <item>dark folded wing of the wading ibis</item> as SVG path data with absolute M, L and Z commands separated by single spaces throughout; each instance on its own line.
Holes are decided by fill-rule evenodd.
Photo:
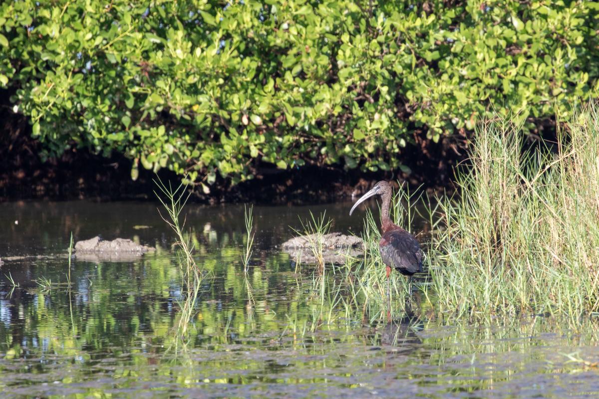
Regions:
M 422 272 L 422 251 L 418 241 L 405 230 L 386 232 L 379 243 L 383 263 L 400 273 L 412 275 Z

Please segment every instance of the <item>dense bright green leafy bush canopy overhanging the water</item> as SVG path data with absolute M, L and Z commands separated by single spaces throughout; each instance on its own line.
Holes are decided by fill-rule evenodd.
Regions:
M 134 178 L 395 169 L 415 128 L 437 141 L 588 98 L 598 17 L 588 1 L 5 1 L 0 85 L 46 155 L 118 151 Z

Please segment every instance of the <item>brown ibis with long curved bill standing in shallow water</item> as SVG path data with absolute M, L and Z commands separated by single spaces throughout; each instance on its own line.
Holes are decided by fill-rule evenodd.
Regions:
M 383 263 L 387 267 L 387 284 L 389 287 L 389 278 L 391 270 L 395 269 L 403 275 L 409 276 L 409 286 L 412 287 L 412 275 L 422 272 L 422 249 L 418 240 L 405 229 L 402 229 L 389 218 L 389 208 L 391 207 L 392 188 L 386 181 L 379 181 L 374 187 L 364 194 L 353 204 L 349 211 L 351 216 L 354 209 L 362 202 L 373 196 L 381 196 L 383 205 L 381 206 L 381 237 L 379 241 L 379 252 Z M 390 290 L 390 288 L 389 288 Z M 410 288 L 411 291 L 411 288 Z M 389 291 L 389 301 L 391 301 L 391 292 Z

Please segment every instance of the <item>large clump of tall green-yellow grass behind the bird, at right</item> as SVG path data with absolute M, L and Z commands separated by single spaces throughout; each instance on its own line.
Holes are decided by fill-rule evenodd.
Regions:
M 576 114 L 556 144 L 524 150 L 506 120 L 477 130 L 459 194 L 441 200 L 428 264 L 441 312 L 599 310 L 599 106 Z

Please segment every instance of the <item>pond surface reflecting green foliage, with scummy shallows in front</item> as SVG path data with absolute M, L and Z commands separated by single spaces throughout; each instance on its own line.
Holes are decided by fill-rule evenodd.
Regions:
M 343 316 L 347 298 L 324 306 L 313 270 L 298 270 L 277 248 L 310 211 L 326 210 L 333 231 L 359 233 L 364 213 L 349 218 L 349 208 L 255 208 L 246 275 L 243 205 L 187 206 L 206 274 L 182 332 L 174 234 L 156 204 L 0 204 L 0 397 L 599 395 L 593 324 L 576 332 L 545 318 L 450 324 L 425 307 L 391 323 L 361 322 Z M 71 232 L 158 250 L 122 261 L 75 258 L 69 289 Z

